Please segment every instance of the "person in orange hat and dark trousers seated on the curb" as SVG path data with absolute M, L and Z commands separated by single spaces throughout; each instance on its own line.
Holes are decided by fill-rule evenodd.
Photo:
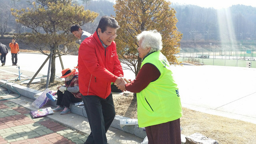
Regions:
M 65 78 L 65 85 L 58 86 L 57 105 L 53 112 L 62 111 L 60 114 L 70 113 L 69 104 L 82 101 L 78 86 L 78 74 L 75 69 L 63 69 L 61 78 Z

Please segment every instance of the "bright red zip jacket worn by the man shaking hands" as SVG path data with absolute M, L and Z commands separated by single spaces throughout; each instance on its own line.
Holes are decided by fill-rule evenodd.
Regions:
M 81 44 L 78 52 L 79 90 L 83 96 L 106 99 L 111 93 L 111 82 L 123 76 L 123 69 L 113 41 L 106 49 L 95 32 Z

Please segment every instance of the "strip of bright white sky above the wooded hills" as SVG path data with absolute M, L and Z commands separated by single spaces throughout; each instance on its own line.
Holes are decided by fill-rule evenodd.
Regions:
M 254 0 L 170 0 L 172 3 L 213 7 L 214 9 L 228 8 L 232 5 L 251 5 L 256 7 Z

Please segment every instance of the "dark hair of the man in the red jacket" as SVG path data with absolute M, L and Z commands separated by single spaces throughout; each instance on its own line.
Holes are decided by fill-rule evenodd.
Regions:
M 98 28 L 101 28 L 101 32 L 105 32 L 107 30 L 107 27 L 118 29 L 120 26 L 118 25 L 118 22 L 114 18 L 110 16 L 102 16 L 99 22 L 99 25 L 96 28 L 96 32 L 98 32 L 97 31 Z

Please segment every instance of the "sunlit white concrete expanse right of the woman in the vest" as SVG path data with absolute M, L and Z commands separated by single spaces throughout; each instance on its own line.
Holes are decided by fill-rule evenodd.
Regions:
M 182 107 L 256 124 L 256 69 L 174 66 Z

